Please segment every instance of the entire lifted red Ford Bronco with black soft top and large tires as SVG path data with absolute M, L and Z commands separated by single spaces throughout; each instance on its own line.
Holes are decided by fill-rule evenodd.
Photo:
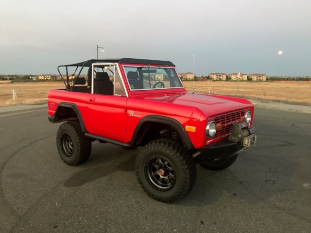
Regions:
M 155 200 L 182 199 L 194 185 L 196 164 L 222 170 L 256 144 L 248 100 L 188 93 L 172 62 L 103 59 L 57 69 L 66 88 L 49 92 L 48 111 L 52 123 L 65 122 L 56 136 L 62 160 L 85 163 L 95 140 L 141 147 L 137 179 Z

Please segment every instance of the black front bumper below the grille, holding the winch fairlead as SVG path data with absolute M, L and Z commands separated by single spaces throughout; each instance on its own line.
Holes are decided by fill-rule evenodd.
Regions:
M 257 129 L 252 127 L 251 134 L 244 137 L 241 143 L 230 142 L 228 139 L 201 147 L 200 154 L 195 158 L 198 163 L 204 162 L 205 159 L 226 159 L 242 150 L 256 146 Z

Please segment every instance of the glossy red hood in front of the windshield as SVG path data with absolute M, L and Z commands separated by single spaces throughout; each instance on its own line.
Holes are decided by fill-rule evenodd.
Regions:
M 251 102 L 241 98 L 207 95 L 201 93 L 168 93 L 166 95 L 148 95 L 136 97 L 144 100 L 156 100 L 167 103 L 198 108 L 207 116 L 219 115 L 234 110 L 250 108 Z

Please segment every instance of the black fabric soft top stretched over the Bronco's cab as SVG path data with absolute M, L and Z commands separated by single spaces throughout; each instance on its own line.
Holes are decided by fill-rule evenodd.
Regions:
M 160 65 L 160 66 L 174 66 L 170 61 L 160 61 L 160 60 L 148 60 L 148 59 L 138 59 L 138 58 L 106 58 L 106 59 L 91 59 L 85 62 L 79 62 L 70 65 L 63 65 L 60 67 L 90 67 L 92 63 L 129 63 L 129 64 L 143 64 L 143 65 Z

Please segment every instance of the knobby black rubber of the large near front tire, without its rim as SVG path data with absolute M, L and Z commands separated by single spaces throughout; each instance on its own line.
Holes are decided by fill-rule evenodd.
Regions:
M 170 162 L 176 176 L 173 187 L 166 191 L 156 187 L 147 176 L 148 161 L 158 156 Z M 135 171 L 141 188 L 150 197 L 162 202 L 182 199 L 190 192 L 196 179 L 196 165 L 192 156 L 183 145 L 171 139 L 157 139 L 141 148 L 136 159 Z

